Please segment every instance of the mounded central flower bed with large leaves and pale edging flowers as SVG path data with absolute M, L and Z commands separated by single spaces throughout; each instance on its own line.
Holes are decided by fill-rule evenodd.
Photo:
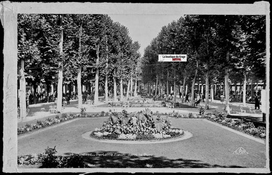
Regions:
M 113 112 L 90 136 L 110 140 L 154 140 L 175 138 L 183 133 L 182 129 L 172 128 L 169 120 L 162 120 L 159 115 L 152 115 L 150 109 L 145 109 L 131 114 L 126 110 L 120 115 Z

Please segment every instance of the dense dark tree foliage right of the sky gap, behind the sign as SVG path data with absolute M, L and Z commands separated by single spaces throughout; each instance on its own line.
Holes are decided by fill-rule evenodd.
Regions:
M 176 86 L 183 86 L 185 94 L 188 85 L 191 91 L 187 94 L 193 95 L 195 83 L 205 83 L 208 97 L 211 85 L 224 84 L 228 101 L 230 82 L 265 83 L 265 25 L 263 15 L 184 15 L 172 21 L 144 50 L 145 89 L 149 94 L 166 92 L 168 96 L 170 86 L 174 93 Z M 187 54 L 187 62 L 158 62 L 158 54 Z

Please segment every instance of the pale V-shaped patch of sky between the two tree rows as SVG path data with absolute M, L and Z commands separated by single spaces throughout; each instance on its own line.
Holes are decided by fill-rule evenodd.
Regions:
M 133 41 L 141 45 L 139 52 L 143 51 L 152 39 L 157 37 L 161 28 L 168 23 L 178 20 L 181 15 L 109 15 L 114 22 L 125 25 Z

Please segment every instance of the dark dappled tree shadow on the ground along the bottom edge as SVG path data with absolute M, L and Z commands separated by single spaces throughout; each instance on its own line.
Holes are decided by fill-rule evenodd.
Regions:
M 71 154 L 78 155 L 75 153 L 65 153 L 66 156 L 70 156 Z M 88 163 L 94 168 L 242 168 L 236 165 L 211 165 L 203 163 L 200 160 L 167 159 L 165 157 L 140 155 L 132 156 L 132 154 L 129 153 L 107 151 L 89 152 L 81 157 L 85 163 Z

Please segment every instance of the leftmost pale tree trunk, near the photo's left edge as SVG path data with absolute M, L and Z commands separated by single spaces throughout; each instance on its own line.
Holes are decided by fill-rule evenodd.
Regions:
M 26 103 L 26 78 L 24 78 L 24 60 L 20 61 L 20 118 L 24 119 L 27 116 Z

